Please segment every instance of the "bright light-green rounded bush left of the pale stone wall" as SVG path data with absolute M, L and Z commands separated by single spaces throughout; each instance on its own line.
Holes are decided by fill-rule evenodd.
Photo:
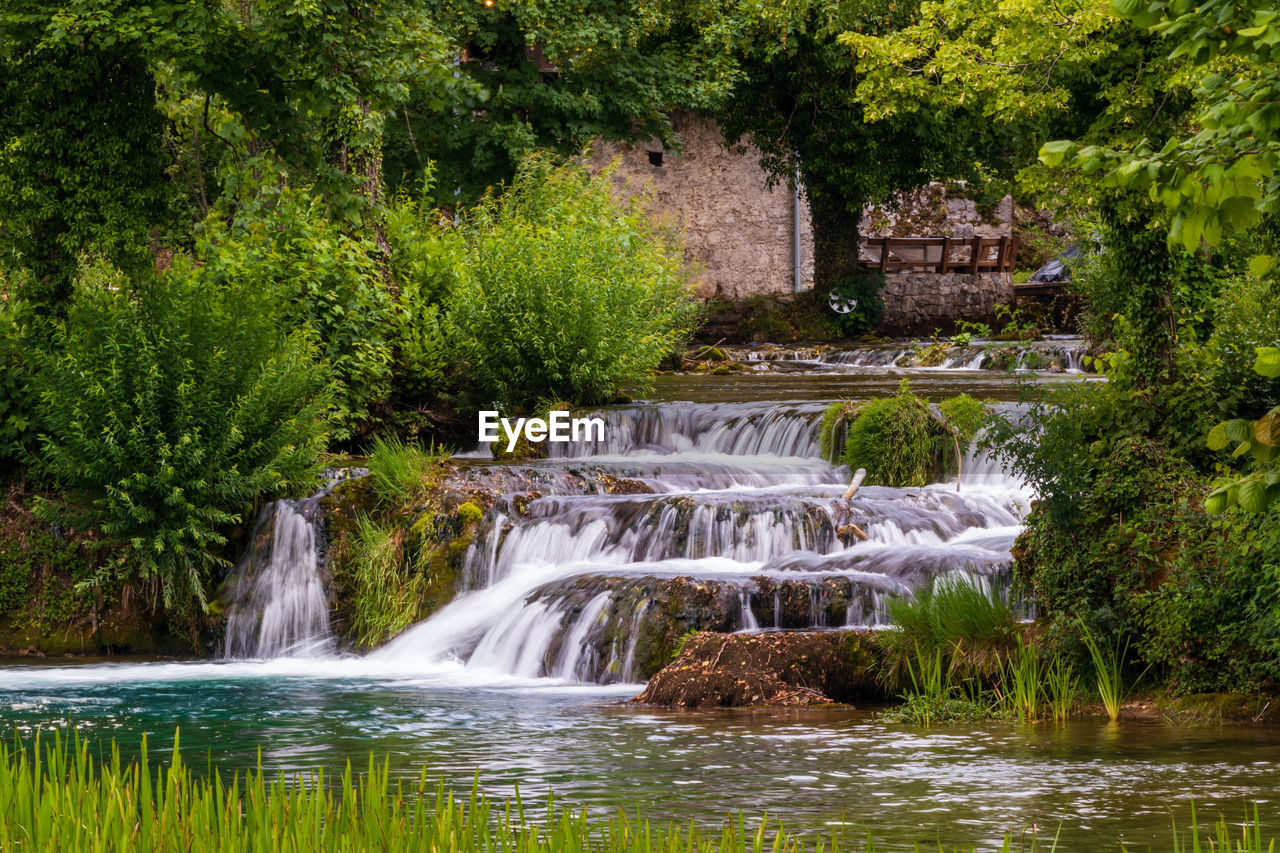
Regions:
M 599 403 L 644 388 L 699 309 L 676 241 L 608 175 L 532 159 L 465 214 L 466 273 L 448 300 L 451 350 L 472 396 Z

